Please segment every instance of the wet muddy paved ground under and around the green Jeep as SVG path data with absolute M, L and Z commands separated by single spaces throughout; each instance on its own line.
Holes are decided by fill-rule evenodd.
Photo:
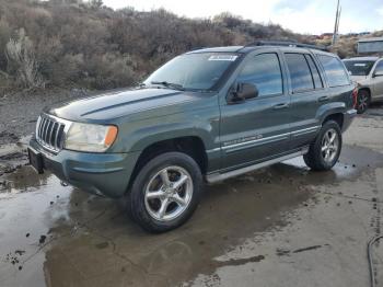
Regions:
M 15 168 L 0 176 L 0 286 L 370 286 L 382 137 L 378 106 L 345 134 L 333 171 L 311 172 L 298 158 L 207 186 L 192 219 L 158 236 L 124 202 L 37 176 L 21 156 L 1 158 L 23 145 L 2 147 L 0 164 Z M 383 286 L 382 243 L 373 262 Z

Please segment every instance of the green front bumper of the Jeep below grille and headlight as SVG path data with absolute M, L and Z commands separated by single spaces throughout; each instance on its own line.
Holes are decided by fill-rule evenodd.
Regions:
M 107 197 L 121 197 L 129 184 L 140 152 L 91 153 L 61 150 L 57 154 L 45 150 L 36 139 L 30 146 L 43 157 L 44 169 L 85 192 Z

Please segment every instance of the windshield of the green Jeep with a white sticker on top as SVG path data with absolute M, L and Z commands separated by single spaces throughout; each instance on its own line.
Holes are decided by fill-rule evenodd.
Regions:
M 144 84 L 162 84 L 185 90 L 211 90 L 237 57 L 232 53 L 185 54 L 154 71 Z

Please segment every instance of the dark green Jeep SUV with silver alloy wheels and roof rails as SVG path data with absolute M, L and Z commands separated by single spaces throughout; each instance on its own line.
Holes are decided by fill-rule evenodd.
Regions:
M 140 87 L 46 107 L 28 154 L 83 191 L 127 197 L 144 229 L 185 222 L 208 183 L 303 156 L 338 160 L 355 85 L 333 54 L 255 43 L 175 57 Z

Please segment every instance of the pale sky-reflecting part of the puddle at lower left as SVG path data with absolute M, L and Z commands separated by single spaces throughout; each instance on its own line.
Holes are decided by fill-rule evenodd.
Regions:
M 31 170 L 25 167 L 11 174 L 7 179 L 10 182 L 7 192 L 0 194 L 2 286 L 13 285 L 7 278 L 18 276 L 20 272 L 28 275 L 20 285 L 33 286 L 28 283 L 30 276 L 44 285 L 45 257 L 39 250 L 50 240 L 55 222 L 69 219 L 67 205 L 70 190 L 61 187 L 54 175 L 36 176 Z

